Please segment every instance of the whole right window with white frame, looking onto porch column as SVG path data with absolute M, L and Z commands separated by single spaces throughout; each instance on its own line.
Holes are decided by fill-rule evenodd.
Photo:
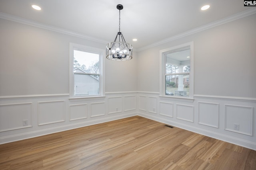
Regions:
M 193 42 L 160 51 L 161 96 L 193 98 Z

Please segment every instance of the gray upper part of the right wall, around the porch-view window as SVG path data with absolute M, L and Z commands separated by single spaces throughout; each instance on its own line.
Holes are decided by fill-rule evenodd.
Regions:
M 159 51 L 194 41 L 194 94 L 256 98 L 256 14 L 138 52 L 138 91 L 159 92 Z

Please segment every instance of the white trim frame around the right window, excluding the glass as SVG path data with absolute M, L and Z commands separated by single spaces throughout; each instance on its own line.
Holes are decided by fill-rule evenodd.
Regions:
M 182 97 L 182 96 L 169 96 L 165 94 L 165 54 L 169 53 L 170 51 L 178 51 L 179 49 L 183 49 L 185 47 L 190 47 L 190 75 L 189 75 L 189 97 Z M 181 45 L 177 45 L 174 47 L 170 47 L 168 49 L 160 50 L 160 96 L 166 98 L 173 98 L 173 99 L 194 99 L 194 42 L 184 43 Z

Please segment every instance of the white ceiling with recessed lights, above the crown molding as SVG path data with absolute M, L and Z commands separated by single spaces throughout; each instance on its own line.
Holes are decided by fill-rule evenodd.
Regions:
M 0 0 L 0 12 L 110 42 L 119 29 L 117 4 L 124 6 L 121 32 L 135 49 L 255 9 L 242 0 Z

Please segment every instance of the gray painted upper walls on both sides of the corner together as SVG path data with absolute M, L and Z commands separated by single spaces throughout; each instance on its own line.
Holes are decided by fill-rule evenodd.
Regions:
M 106 60 L 106 92 L 159 92 L 159 51 L 194 41 L 194 94 L 256 97 L 256 14 Z M 105 44 L 0 19 L 0 96 L 67 94 L 69 43 Z

